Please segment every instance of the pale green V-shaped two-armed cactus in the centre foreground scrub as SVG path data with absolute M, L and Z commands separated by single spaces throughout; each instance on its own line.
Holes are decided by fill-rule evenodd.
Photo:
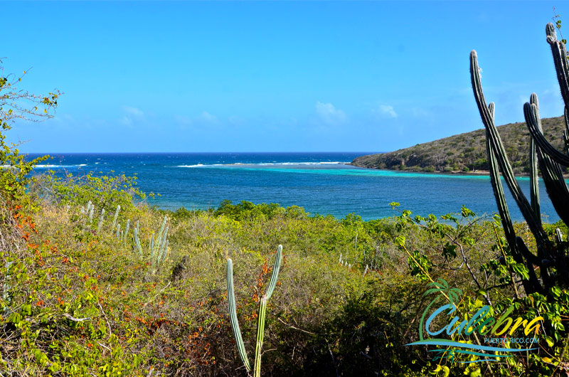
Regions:
M 253 366 L 253 376 L 261 376 L 261 351 L 262 351 L 262 341 L 265 336 L 265 314 L 267 312 L 267 302 L 271 298 L 272 293 L 275 292 L 275 287 L 277 286 L 277 280 L 279 278 L 280 264 L 282 260 L 282 245 L 277 248 L 277 256 L 275 257 L 275 265 L 272 266 L 272 274 L 269 280 L 269 286 L 267 287 L 267 292 L 262 295 L 259 300 L 259 315 L 257 322 L 257 343 L 255 346 L 255 364 Z M 233 329 L 233 335 L 235 336 L 235 342 L 237 343 L 237 348 L 239 351 L 239 356 L 247 372 L 251 372 L 251 364 L 247 357 L 247 352 L 245 351 L 245 344 L 243 343 L 243 336 L 241 336 L 241 330 L 239 329 L 239 322 L 237 320 L 237 310 L 235 307 L 235 291 L 233 290 L 233 262 L 231 258 L 227 260 L 227 297 L 229 304 L 229 319 L 231 322 L 231 329 Z

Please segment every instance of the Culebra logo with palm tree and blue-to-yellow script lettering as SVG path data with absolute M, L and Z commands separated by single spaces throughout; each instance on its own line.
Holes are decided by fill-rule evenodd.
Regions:
M 439 279 L 438 282 L 431 282 L 428 286 L 432 287 L 430 290 L 425 292 L 427 294 L 437 293 L 437 297 L 432 299 L 430 304 L 422 313 L 422 317 L 419 324 L 419 340 L 413 343 L 407 344 L 407 346 L 437 346 L 437 349 L 430 349 L 429 351 L 435 352 L 435 361 L 438 359 L 451 359 L 454 361 L 454 356 L 457 354 L 467 354 L 472 356 L 479 356 L 478 359 L 459 361 L 460 363 L 476 363 L 481 361 L 498 361 L 509 356 L 514 356 L 514 352 L 526 352 L 533 351 L 537 348 L 524 348 L 526 345 L 528 347 L 539 343 L 539 339 L 534 337 L 533 334 L 537 334 L 543 321 L 543 317 L 536 317 L 528 322 L 527 319 L 522 319 L 518 317 L 515 321 L 511 319 L 509 315 L 514 311 L 514 306 L 512 305 L 506 312 L 501 314 L 501 317 L 496 321 L 494 317 L 489 316 L 490 307 L 484 305 L 474 314 L 470 319 L 465 317 L 462 322 L 457 315 L 451 319 L 452 314 L 457 311 L 457 305 L 455 302 L 459 301 L 459 297 L 462 296 L 462 290 L 458 288 L 449 288 L 448 283 Z M 431 307 L 435 302 L 437 302 L 441 297 L 444 297 L 448 304 L 444 304 L 441 307 L 435 309 L 435 311 L 427 317 L 428 312 L 430 312 Z M 442 317 L 448 317 L 448 321 L 442 319 Z M 458 313 L 457 313 L 458 314 Z M 425 321 L 425 317 L 427 317 Z M 433 322 L 443 322 L 446 323 L 445 326 L 440 328 L 435 328 Z M 514 336 L 523 329 L 523 337 Z M 432 338 L 427 338 L 423 336 L 423 330 L 427 331 L 429 336 Z M 516 331 L 517 330 L 517 331 Z M 467 340 L 453 340 L 445 339 L 441 336 L 443 333 L 447 334 L 451 338 L 457 338 L 459 336 L 464 336 Z M 530 336 L 530 334 L 532 334 Z M 472 336 L 472 339 L 470 339 Z M 474 344 L 476 341 L 477 344 Z M 493 345 L 483 345 L 483 344 L 494 344 Z M 504 346 L 496 346 L 497 344 L 503 344 Z M 511 348 L 512 344 L 523 344 L 522 348 Z M 472 359 L 469 358 L 469 359 Z

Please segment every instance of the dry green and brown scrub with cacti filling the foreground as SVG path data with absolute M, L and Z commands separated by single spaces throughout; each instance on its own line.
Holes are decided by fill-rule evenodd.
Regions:
M 567 157 L 540 139 L 532 97 L 531 201 L 516 191 L 477 73 L 473 54 L 495 218 L 464 207 L 414 216 L 398 203 L 393 218 L 374 221 L 245 201 L 161 211 L 125 176 L 31 181 L 33 164 L 4 144 L 12 162 L 0 186 L 1 376 L 260 376 L 261 359 L 265 376 L 566 375 L 569 229 L 539 222 L 536 166 L 566 221 L 555 164 Z M 526 223 L 509 221 L 499 171 Z M 427 318 L 437 304 L 457 314 L 452 324 Z M 450 340 L 487 344 L 466 320 L 477 315 L 514 350 L 525 345 L 509 336 L 523 324 L 536 349 L 409 345 L 445 323 Z M 509 316 L 518 318 L 511 330 Z

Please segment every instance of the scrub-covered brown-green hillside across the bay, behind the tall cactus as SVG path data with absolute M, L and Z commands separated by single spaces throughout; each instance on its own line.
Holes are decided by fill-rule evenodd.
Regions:
M 545 118 L 541 122 L 543 133 L 548 140 L 557 149 L 562 149 L 565 127 L 563 117 Z M 498 130 L 514 172 L 526 174 L 529 170 L 529 132 L 526 124 L 504 124 L 499 126 Z M 487 171 L 484 135 L 484 129 L 477 129 L 395 152 L 361 156 L 351 164 L 374 169 L 408 171 Z

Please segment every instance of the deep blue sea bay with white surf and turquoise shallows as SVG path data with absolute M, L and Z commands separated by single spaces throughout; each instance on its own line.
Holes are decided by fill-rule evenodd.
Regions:
M 488 176 L 405 173 L 346 165 L 369 153 L 50 154 L 53 159 L 36 171 L 136 174 L 141 191 L 161 194 L 149 204 L 172 210 L 181 206 L 206 209 L 228 199 L 233 203 L 302 206 L 309 213 L 337 218 L 356 213 L 365 220 L 398 215 L 389 206 L 392 201 L 421 216 L 457 212 L 463 204 L 479 215 L 497 211 Z M 519 183 L 529 195 L 528 178 L 520 178 Z M 506 186 L 504 189 L 507 191 Z M 557 221 L 543 182 L 540 192 L 544 220 Z M 523 221 L 511 196 L 508 203 L 514 220 Z

